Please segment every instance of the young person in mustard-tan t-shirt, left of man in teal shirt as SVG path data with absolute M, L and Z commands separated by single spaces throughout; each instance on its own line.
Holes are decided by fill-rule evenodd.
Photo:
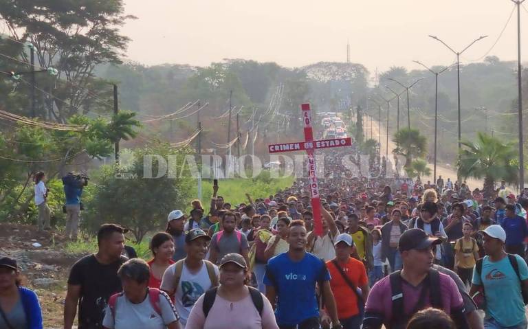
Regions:
M 464 223 L 462 226 L 462 238 L 454 244 L 454 269 L 464 284 L 470 285 L 473 276 L 473 267 L 478 260 L 478 245 L 471 237 L 473 225 Z

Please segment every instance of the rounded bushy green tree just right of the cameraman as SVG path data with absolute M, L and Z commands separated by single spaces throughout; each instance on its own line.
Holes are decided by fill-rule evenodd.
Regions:
M 133 151 L 133 161 L 127 167 L 103 166 L 94 177 L 98 184 L 86 206 L 85 227 L 95 232 L 102 223 L 118 223 L 129 228 L 137 242 L 149 231 L 163 229 L 170 211 L 188 205 L 193 182 L 184 157 L 191 152 L 188 148 L 175 150 L 168 144 L 148 144 Z M 177 170 L 177 178 L 144 177 L 146 155 L 159 155 L 165 161 L 172 156 L 175 162 L 170 168 Z M 155 175 L 160 162 L 153 159 Z

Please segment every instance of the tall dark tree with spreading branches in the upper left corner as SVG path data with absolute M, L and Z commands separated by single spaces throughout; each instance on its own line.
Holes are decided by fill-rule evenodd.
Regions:
M 135 18 L 123 12 L 122 0 L 0 1 L 0 18 L 10 37 L 34 45 L 37 67 L 59 71 L 56 82 L 63 83 L 58 83 L 50 100 L 58 113 L 49 107 L 55 120 L 65 122 L 76 113 L 111 106 L 94 102 L 98 91 L 107 92 L 100 98 L 111 93 L 94 77 L 94 70 L 102 63 L 121 63 L 129 38 L 118 27 Z M 28 49 L 20 49 L 20 57 L 29 62 Z

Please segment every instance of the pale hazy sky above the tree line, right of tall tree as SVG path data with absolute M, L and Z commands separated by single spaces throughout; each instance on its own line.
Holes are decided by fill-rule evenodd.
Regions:
M 132 38 L 128 56 L 147 65 L 205 66 L 223 58 L 274 61 L 299 67 L 319 61 L 351 62 L 371 72 L 392 65 L 418 68 L 454 60 L 433 34 L 455 50 L 489 35 L 463 54 L 483 56 L 514 9 L 510 0 L 124 0 L 138 17 L 122 32 Z M 528 8 L 528 1 L 525 5 Z M 528 12 L 521 7 L 528 58 Z M 516 12 L 489 55 L 516 59 Z

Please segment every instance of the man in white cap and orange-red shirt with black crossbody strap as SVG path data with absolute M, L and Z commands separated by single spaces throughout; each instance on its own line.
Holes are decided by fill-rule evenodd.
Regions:
M 354 250 L 352 236 L 337 236 L 336 258 L 327 262 L 330 287 L 338 307 L 338 317 L 343 329 L 359 329 L 363 321 L 363 306 L 369 296 L 369 279 L 363 262 L 351 258 Z

